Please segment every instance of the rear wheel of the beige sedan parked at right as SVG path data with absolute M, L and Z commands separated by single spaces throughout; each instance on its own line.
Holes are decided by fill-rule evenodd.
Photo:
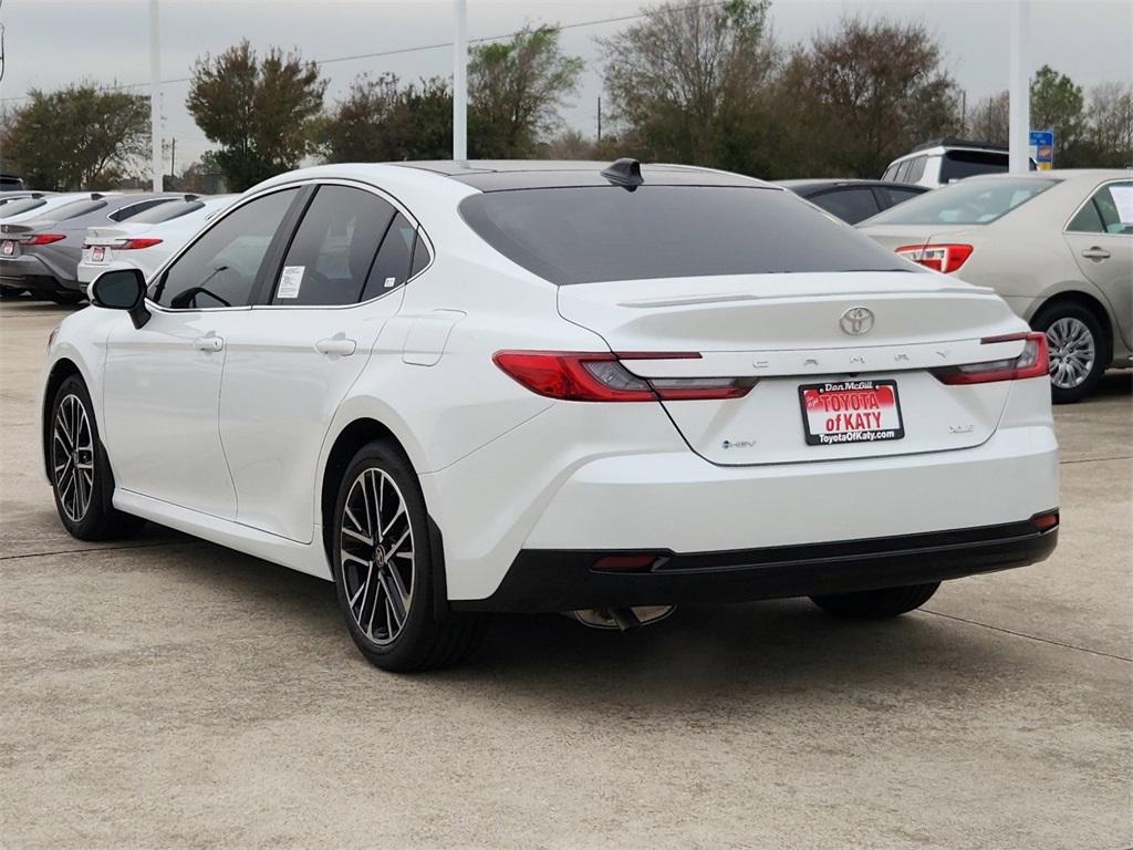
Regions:
M 1097 316 L 1080 304 L 1053 304 L 1039 312 L 1034 330 L 1050 348 L 1050 397 L 1056 405 L 1081 401 L 1106 371 L 1106 338 Z

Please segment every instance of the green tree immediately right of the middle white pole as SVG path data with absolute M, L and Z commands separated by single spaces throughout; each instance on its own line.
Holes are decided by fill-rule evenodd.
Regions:
M 468 146 L 476 159 L 531 156 L 561 124 L 582 60 L 563 56 L 559 29 L 525 27 L 511 41 L 480 44 L 468 62 Z

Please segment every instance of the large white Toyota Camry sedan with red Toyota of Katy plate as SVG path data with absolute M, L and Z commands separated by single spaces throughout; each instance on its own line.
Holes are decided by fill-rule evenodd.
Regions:
M 497 611 L 893 617 L 1057 538 L 1045 337 L 738 175 L 305 169 L 92 303 L 44 380 L 67 530 L 332 580 L 390 670 Z

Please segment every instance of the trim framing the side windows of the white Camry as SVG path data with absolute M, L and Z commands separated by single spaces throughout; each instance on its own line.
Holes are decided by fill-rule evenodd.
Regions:
M 406 282 L 400 287 L 395 287 L 389 292 L 381 292 L 365 301 L 358 301 L 356 304 L 272 304 L 271 297 L 274 291 L 274 282 L 279 280 L 280 267 L 283 263 L 283 258 L 287 255 L 287 248 L 290 246 L 291 240 L 295 238 L 296 230 L 299 227 L 299 222 L 303 220 L 303 213 L 307 211 L 307 206 L 310 204 L 312 198 L 315 196 L 315 192 L 320 186 L 348 186 L 356 189 L 364 189 L 373 195 L 377 195 L 383 201 L 390 203 L 394 210 L 400 212 L 410 224 L 414 226 L 416 232 L 416 239 L 424 237 L 425 247 L 428 250 L 428 263 L 421 269 L 417 274 L 411 278 L 407 278 Z M 275 236 L 272 237 L 271 244 L 267 246 L 267 252 L 264 254 L 264 261 L 259 265 L 259 272 L 256 274 L 256 280 L 252 284 L 252 294 L 248 298 L 248 304 L 241 304 L 233 307 L 184 307 L 184 308 L 170 308 L 162 306 L 154 301 L 148 294 L 148 290 L 153 287 L 155 282 L 161 280 L 173 264 L 180 260 L 181 255 L 196 245 L 198 241 L 204 239 L 212 229 L 219 226 L 224 219 L 235 213 L 237 210 L 242 207 L 245 204 L 250 204 L 253 201 L 257 201 L 267 195 L 272 195 L 276 192 L 284 192 L 287 189 L 299 189 L 298 195 L 291 202 L 291 206 L 288 207 L 287 213 L 283 216 L 283 221 L 280 223 L 279 229 L 275 231 Z M 416 239 L 414 245 L 416 245 Z M 276 256 L 278 250 L 278 256 Z M 411 254 L 410 254 L 411 256 Z M 170 314 L 184 314 L 184 313 L 214 313 L 219 311 L 241 311 L 241 309 L 353 309 L 355 307 L 364 307 L 368 304 L 373 304 L 380 298 L 385 298 L 399 292 L 404 289 L 409 283 L 429 269 L 433 267 L 433 263 L 436 261 L 436 250 L 434 249 L 434 243 L 429 237 L 428 232 L 421 227 L 420 221 L 414 215 L 404 204 L 402 204 L 395 196 L 391 195 L 389 192 L 374 186 L 373 184 L 365 182 L 363 180 L 352 180 L 349 178 L 307 178 L 303 180 L 291 180 L 288 182 L 274 184 L 267 186 L 261 192 L 254 195 L 247 195 L 239 198 L 230 206 L 224 207 L 219 213 L 215 213 L 215 218 L 208 221 L 207 229 L 197 233 L 195 239 L 189 240 L 182 245 L 172 256 L 170 256 L 157 271 L 154 273 L 153 278 L 147 283 L 146 289 L 146 307 L 151 311 L 157 313 L 170 313 Z M 267 270 L 271 269 L 273 274 L 267 274 Z

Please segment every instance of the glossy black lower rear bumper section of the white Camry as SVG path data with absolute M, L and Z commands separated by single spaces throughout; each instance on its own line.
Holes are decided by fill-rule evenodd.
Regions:
M 1057 527 L 1038 530 L 1032 518 L 836 543 L 656 552 L 653 566 L 639 572 L 594 569 L 608 551 L 523 550 L 492 596 L 452 605 L 465 611 L 534 612 L 853 593 L 1025 567 L 1046 559 L 1057 541 Z

